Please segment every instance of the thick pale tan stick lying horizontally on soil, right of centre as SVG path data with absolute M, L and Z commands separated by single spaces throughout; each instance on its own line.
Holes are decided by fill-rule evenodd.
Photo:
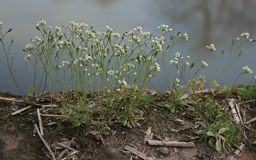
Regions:
M 156 146 L 196 147 L 193 142 L 176 142 L 176 141 L 148 140 L 148 144 L 156 145 Z

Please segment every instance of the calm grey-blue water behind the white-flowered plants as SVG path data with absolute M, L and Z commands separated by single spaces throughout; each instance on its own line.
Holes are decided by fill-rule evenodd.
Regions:
M 206 76 L 207 84 L 220 69 L 221 50 L 228 56 L 232 39 L 242 32 L 249 32 L 250 37 L 256 39 L 255 7 L 255 0 L 0 0 L 0 21 L 3 21 L 4 29 L 13 28 L 8 36 L 9 40 L 14 39 L 11 48 L 14 58 L 13 72 L 20 88 L 25 92 L 24 57 L 27 53 L 22 49 L 31 38 L 39 35 L 35 24 L 40 19 L 46 20 L 47 26 L 69 25 L 71 20 L 84 22 L 99 31 L 105 30 L 105 26 L 109 25 L 118 33 L 142 26 L 143 31 L 149 31 L 155 36 L 160 36 L 157 26 L 167 24 L 173 29 L 172 34 L 178 31 L 187 32 L 191 40 L 177 45 L 166 58 L 166 64 L 169 64 L 177 51 L 184 56 L 190 55 L 189 62 L 198 64 L 205 52 L 205 46 L 215 44 L 217 50 L 210 52 L 205 58 L 209 67 L 199 73 Z M 220 85 L 232 85 L 245 65 L 256 74 L 256 43 L 247 43 L 242 50 L 243 54 L 238 62 L 217 79 Z M 0 58 L 4 58 L 2 48 Z M 244 75 L 237 84 L 247 84 L 253 75 Z M 2 63 L 0 77 L 0 90 L 20 94 Z M 164 72 L 158 72 L 155 81 L 160 89 L 166 90 L 167 85 L 163 83 L 163 78 Z

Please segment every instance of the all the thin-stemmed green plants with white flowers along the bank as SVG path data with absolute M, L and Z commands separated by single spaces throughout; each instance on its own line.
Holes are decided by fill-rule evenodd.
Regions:
M 5 40 L 12 29 L 4 32 L 2 25 L 0 22 L 0 41 L 5 59 L 0 61 L 10 70 L 19 88 L 12 73 L 13 57 L 9 53 L 13 40 Z M 155 90 L 159 90 L 154 77 L 161 70 L 160 64 L 163 64 L 169 94 L 163 97 L 164 102 L 157 105 L 169 108 L 172 113 L 178 109 L 186 110 L 191 118 L 198 120 L 202 128 L 195 131 L 201 135 L 199 141 L 208 141 L 218 151 L 239 142 L 238 132 L 230 125 L 226 109 L 237 79 L 243 74 L 251 74 L 252 70 L 245 66 L 230 89 L 219 89 L 228 93 L 222 105 L 217 104 L 214 99 L 198 104 L 191 93 L 199 91 L 196 93 L 199 94 L 210 86 L 212 90 L 218 86 L 216 79 L 241 56 L 241 45 L 255 41 L 249 39 L 249 33 L 242 33 L 240 38 L 236 38 L 236 49 L 235 40 L 232 40 L 229 54 L 221 52 L 220 71 L 204 86 L 205 77 L 195 77 L 201 69 L 208 67 L 204 57 L 207 53 L 216 51 L 214 44 L 206 46 L 206 51 L 196 66 L 194 62 L 188 62 L 189 55 L 184 58 L 180 52 L 176 52 L 170 64 L 165 65 L 164 59 L 172 52 L 173 47 L 180 41 L 190 40 L 187 33 L 178 32 L 168 36 L 167 33 L 172 32 L 168 25 L 157 27 L 160 37 L 143 32 L 141 26 L 119 34 L 109 26 L 99 32 L 93 30 L 93 26 L 73 21 L 61 28 L 47 26 L 44 20 L 40 20 L 35 29 L 38 30 L 38 36 L 31 39 L 23 50 L 27 52 L 24 71 L 28 94 L 20 91 L 27 96 L 27 101 L 47 97 L 54 103 L 52 91 L 55 89 L 62 102 L 60 114 L 65 115 L 63 120 L 73 127 L 90 126 L 94 133 L 107 135 L 110 130 L 108 124 L 112 124 L 112 120 L 130 128 L 140 126 L 139 120 L 144 118 L 143 111 L 138 106 L 154 103 L 154 98 L 143 93 L 149 82 Z M 227 62 L 223 62 L 224 55 L 228 56 Z M 168 67 L 172 69 L 167 69 Z M 172 70 L 171 74 L 169 70 Z M 180 78 L 173 77 L 175 71 L 180 74 Z M 48 89 L 49 92 L 45 92 Z M 248 99 L 255 95 L 255 90 L 251 89 L 244 87 L 243 90 L 236 91 L 241 97 Z M 160 93 L 159 95 L 161 97 Z M 192 113 L 188 111 L 188 107 Z

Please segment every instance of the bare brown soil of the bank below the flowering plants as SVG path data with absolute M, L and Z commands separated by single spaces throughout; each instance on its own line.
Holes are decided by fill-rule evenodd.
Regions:
M 1 97 L 6 98 L 21 98 L 9 93 L 0 93 Z M 221 96 L 219 96 L 220 98 Z M 11 113 L 24 108 L 26 105 L 18 105 L 10 102 L 0 101 L 0 159 L 48 159 L 45 156 L 44 144 L 36 133 L 33 133 L 34 124 L 38 124 L 36 108 L 32 108 L 21 114 L 12 116 Z M 250 104 L 246 110 L 246 119 L 250 120 L 255 117 L 256 107 L 255 102 Z M 47 114 L 54 114 L 53 111 Z M 144 106 L 143 117 L 145 120 L 140 120 L 140 126 L 136 128 L 127 128 L 120 123 L 113 123 L 111 131 L 115 134 L 103 136 L 103 141 L 107 147 L 104 148 L 102 142 L 95 138 L 94 135 L 86 133 L 90 128 L 81 127 L 80 129 L 72 128 L 68 122 L 61 122 L 56 118 L 42 117 L 44 124 L 44 139 L 48 144 L 53 141 L 62 142 L 63 138 L 71 140 L 75 137 L 75 142 L 80 147 L 79 153 L 76 154 L 77 159 L 140 159 L 132 153 L 123 153 L 124 146 L 130 145 L 138 151 L 143 151 L 148 157 L 156 159 L 224 159 L 227 156 L 234 156 L 234 150 L 227 148 L 217 152 L 211 148 L 206 142 L 197 142 L 191 140 L 188 136 L 196 136 L 193 133 L 194 121 L 182 116 L 182 112 L 170 114 L 170 110 L 157 105 Z M 179 118 L 185 121 L 184 125 L 177 124 L 172 121 Z M 49 122 L 57 122 L 54 125 L 47 126 Z M 144 145 L 144 132 L 148 127 L 152 128 L 154 133 L 153 140 L 160 140 L 159 138 L 169 138 L 170 141 L 185 141 L 194 142 L 195 148 L 182 147 L 165 147 L 167 154 L 161 152 L 161 146 Z M 256 121 L 250 125 L 250 130 L 245 129 L 246 136 L 250 142 L 256 140 Z M 178 129 L 182 132 L 174 133 L 171 129 Z M 177 150 L 176 150 L 177 149 Z M 238 159 L 256 159 L 255 147 L 246 143 L 244 150 Z M 62 151 L 52 150 L 53 152 Z M 175 151 L 174 151 L 175 150 Z

